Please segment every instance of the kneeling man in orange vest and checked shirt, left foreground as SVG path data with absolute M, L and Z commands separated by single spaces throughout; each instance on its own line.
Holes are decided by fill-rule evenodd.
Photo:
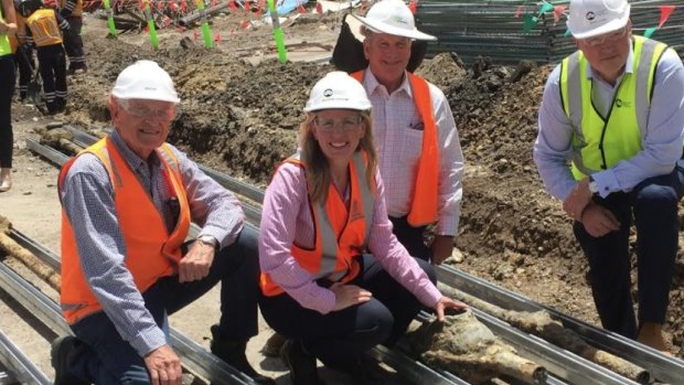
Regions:
M 53 342 L 55 384 L 180 384 L 168 316 L 221 281 L 212 352 L 259 384 L 247 362 L 257 333 L 256 233 L 238 201 L 165 143 L 178 95 L 139 61 L 109 97 L 111 135 L 60 173 L 62 290 L 73 336 Z M 202 226 L 185 243 L 190 222 Z

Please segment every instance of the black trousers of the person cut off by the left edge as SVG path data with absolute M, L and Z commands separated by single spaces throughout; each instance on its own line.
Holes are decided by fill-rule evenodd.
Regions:
M 14 61 L 12 55 L 0 56 L 0 168 L 12 168 L 12 96 L 14 95 Z

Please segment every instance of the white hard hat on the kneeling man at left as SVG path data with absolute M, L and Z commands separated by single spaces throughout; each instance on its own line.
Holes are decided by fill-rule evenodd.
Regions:
M 111 95 L 119 99 L 149 99 L 179 103 L 169 73 L 152 61 L 137 61 L 116 78 Z

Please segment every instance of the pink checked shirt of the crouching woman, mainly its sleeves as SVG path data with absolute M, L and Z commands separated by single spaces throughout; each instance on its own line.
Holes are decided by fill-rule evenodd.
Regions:
M 392 234 L 385 208 L 384 186 L 376 174 L 377 197 L 368 239 L 368 249 L 389 275 L 418 300 L 434 307 L 441 295 L 416 260 Z M 349 202 L 349 192 L 345 194 Z M 307 196 L 307 180 L 301 168 L 284 163 L 266 189 L 259 227 L 261 271 L 271 276 L 302 307 L 328 313 L 335 303 L 334 293 L 318 286 L 290 253 L 292 243 L 313 247 L 313 221 Z

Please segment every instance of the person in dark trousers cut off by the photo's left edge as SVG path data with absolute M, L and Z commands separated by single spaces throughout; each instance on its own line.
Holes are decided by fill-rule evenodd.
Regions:
M 0 3 L 0 192 L 12 188 L 12 95 L 14 95 L 14 60 L 10 36 L 17 32 L 12 0 Z

